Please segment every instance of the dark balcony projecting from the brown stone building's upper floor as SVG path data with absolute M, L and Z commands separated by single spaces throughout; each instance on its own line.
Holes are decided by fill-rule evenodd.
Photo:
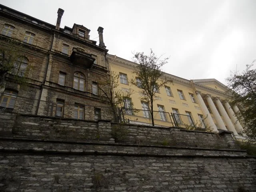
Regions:
M 79 48 L 73 48 L 70 60 L 73 64 L 79 65 L 83 68 L 91 68 L 95 58 L 92 57 L 92 54 L 88 54 Z

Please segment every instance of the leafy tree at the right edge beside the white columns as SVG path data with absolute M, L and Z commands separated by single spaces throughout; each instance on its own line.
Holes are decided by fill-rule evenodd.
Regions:
M 236 114 L 245 129 L 245 134 L 252 142 L 256 141 L 256 68 L 255 60 L 246 65 L 246 70 L 234 72 L 226 80 L 232 92 L 232 106 L 238 106 Z M 254 68 L 254 69 L 253 69 Z

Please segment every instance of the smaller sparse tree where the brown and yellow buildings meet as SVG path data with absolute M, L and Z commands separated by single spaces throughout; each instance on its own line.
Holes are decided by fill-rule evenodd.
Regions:
M 133 103 L 129 103 L 129 108 L 126 106 L 126 100 L 133 94 L 133 90 L 120 90 L 118 88 L 119 75 L 112 72 L 106 80 L 98 82 L 98 88 L 102 96 L 105 96 L 110 104 L 111 112 L 115 122 L 120 122 L 120 114 L 118 108 L 122 108 L 122 112 L 133 108 Z

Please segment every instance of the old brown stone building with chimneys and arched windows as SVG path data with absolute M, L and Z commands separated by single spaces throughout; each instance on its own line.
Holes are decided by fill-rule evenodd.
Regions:
M 97 87 L 109 74 L 103 28 L 98 28 L 100 43 L 96 45 L 83 25 L 60 28 L 63 14 L 59 8 L 54 26 L 0 5 L 1 50 L 10 46 L 8 40 L 21 46 L 24 57 L 16 65 L 26 71 L 29 83 L 26 87 L 13 84 L 8 73 L 0 89 L 0 106 L 24 114 L 109 118 Z

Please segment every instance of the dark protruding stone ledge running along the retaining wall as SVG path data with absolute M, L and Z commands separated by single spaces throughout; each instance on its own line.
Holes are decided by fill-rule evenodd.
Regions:
M 154 150 L 152 150 L 154 148 Z M 68 143 L 22 139 L 0 140 L 0 152 L 50 153 L 50 154 L 98 154 L 115 156 L 155 157 L 206 157 L 249 158 L 244 150 L 211 150 L 200 148 L 178 148 L 169 146 L 136 146 L 103 143 Z M 251 157 L 250 157 L 251 158 Z

